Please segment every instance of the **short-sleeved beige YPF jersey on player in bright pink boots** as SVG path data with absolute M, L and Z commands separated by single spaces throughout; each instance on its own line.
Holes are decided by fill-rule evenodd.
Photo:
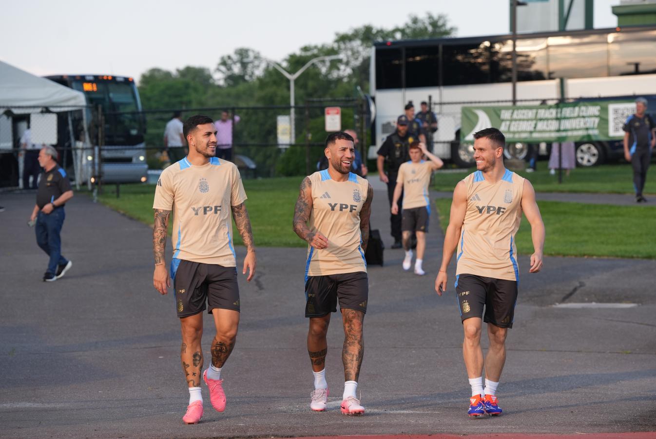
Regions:
M 187 157 L 162 171 L 153 209 L 173 211 L 173 259 L 237 266 L 232 209 L 246 199 L 239 170 L 211 157 L 194 166 Z

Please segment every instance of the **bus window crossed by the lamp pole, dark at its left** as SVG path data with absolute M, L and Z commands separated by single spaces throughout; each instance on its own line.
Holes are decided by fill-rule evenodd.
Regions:
M 517 80 L 546 79 L 546 38 L 518 39 Z M 492 82 L 512 81 L 512 40 L 498 41 L 491 46 L 490 75 Z

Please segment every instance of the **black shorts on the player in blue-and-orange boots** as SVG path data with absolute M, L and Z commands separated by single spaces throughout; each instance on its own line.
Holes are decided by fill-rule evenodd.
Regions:
M 512 327 L 517 303 L 517 281 L 460 274 L 456 276 L 455 292 L 462 321 L 478 317 L 495 326 Z

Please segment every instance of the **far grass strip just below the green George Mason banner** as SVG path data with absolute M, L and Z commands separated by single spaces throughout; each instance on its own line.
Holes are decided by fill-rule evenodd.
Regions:
M 434 178 L 433 188 L 441 191 L 453 191 L 457 182 L 462 180 L 476 168 L 462 172 L 438 171 Z M 590 168 L 572 169 L 569 177 L 563 173 L 563 182 L 558 184 L 558 174 L 549 175 L 546 162 L 538 162 L 538 171 L 527 173 L 518 172 L 522 177 L 528 178 L 537 192 L 600 192 L 609 194 L 633 194 L 633 171 L 631 165 L 622 163 L 615 165 L 602 165 Z M 647 173 L 645 194 L 656 194 L 656 175 Z

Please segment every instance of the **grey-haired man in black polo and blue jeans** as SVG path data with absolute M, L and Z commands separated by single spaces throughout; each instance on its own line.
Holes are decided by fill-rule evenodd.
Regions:
M 64 225 L 64 204 L 73 198 L 71 182 L 66 171 L 57 165 L 57 151 L 45 146 L 39 151 L 39 165 L 43 168 L 37 203 L 32 210 L 30 221 L 36 221 L 37 244 L 50 257 L 48 270 L 43 275 L 45 282 L 58 280 L 73 262 L 62 256 L 60 232 Z

